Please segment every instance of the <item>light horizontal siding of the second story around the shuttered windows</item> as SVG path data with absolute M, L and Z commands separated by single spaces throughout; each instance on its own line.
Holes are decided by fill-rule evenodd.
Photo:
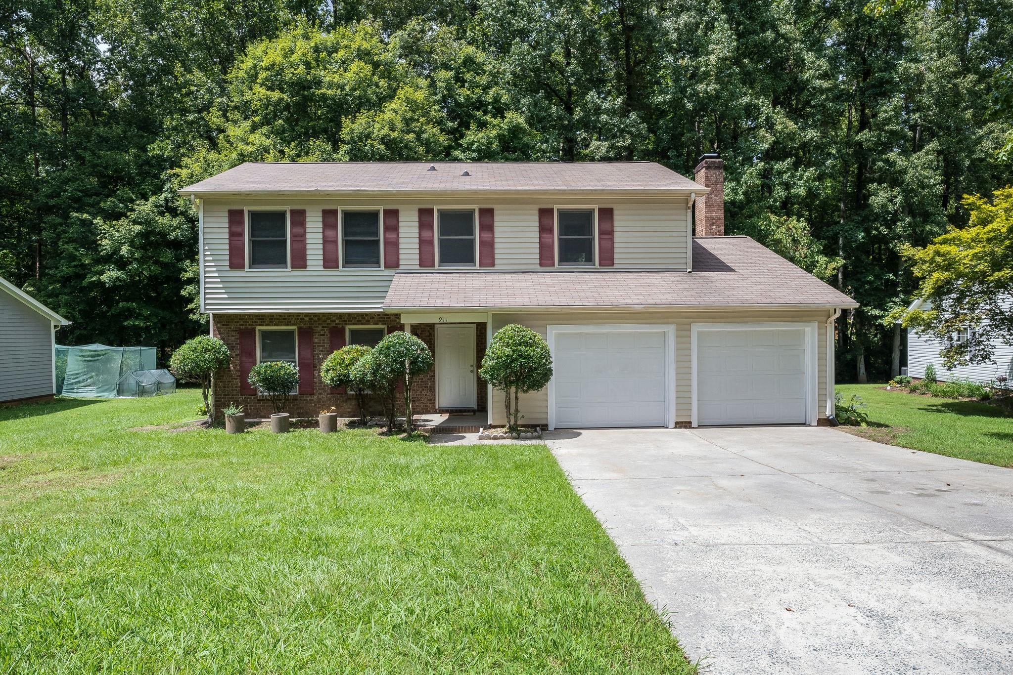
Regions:
M 610 198 L 597 204 L 589 202 L 587 196 L 476 199 L 467 203 L 395 198 L 208 198 L 202 207 L 205 311 L 378 311 L 395 270 L 324 269 L 321 223 L 324 208 L 397 208 L 400 212 L 400 269 L 418 269 L 419 208 L 491 207 L 495 209 L 495 267 L 478 269 L 517 270 L 539 268 L 538 209 L 569 205 L 615 209 L 613 269 L 686 269 L 687 208 L 686 199 L 682 197 Z M 306 209 L 306 269 L 229 269 L 229 209 L 264 206 Z M 447 268 L 434 269 L 446 271 Z

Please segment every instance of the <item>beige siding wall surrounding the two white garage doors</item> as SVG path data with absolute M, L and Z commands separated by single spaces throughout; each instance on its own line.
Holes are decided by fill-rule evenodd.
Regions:
M 676 326 L 676 422 L 689 422 L 692 417 L 692 353 L 690 327 L 693 324 L 753 323 L 753 322 L 816 322 L 816 406 L 820 418 L 827 417 L 827 320 L 829 311 L 752 310 L 752 311 L 684 311 L 684 312 L 596 312 L 557 314 L 493 314 L 492 330 L 508 324 L 527 326 L 545 337 L 547 327 L 559 324 L 675 324 Z M 547 424 L 549 421 L 548 392 L 542 390 L 521 396 L 521 413 L 525 424 Z M 490 410 L 492 423 L 504 421 L 502 394 L 493 392 Z

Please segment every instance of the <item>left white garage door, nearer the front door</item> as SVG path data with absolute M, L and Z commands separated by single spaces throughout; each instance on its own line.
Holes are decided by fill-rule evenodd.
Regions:
M 666 426 L 674 366 L 665 328 L 550 327 L 556 427 Z

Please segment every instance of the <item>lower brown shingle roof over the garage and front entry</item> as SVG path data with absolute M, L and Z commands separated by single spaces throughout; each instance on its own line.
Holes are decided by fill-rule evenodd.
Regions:
M 566 307 L 857 307 L 749 237 L 693 241 L 693 272 L 398 272 L 384 309 Z

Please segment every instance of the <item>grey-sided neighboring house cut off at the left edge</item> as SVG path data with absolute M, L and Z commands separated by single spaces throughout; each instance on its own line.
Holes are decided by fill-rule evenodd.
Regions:
M 54 332 L 70 322 L 0 278 L 0 402 L 53 396 Z

